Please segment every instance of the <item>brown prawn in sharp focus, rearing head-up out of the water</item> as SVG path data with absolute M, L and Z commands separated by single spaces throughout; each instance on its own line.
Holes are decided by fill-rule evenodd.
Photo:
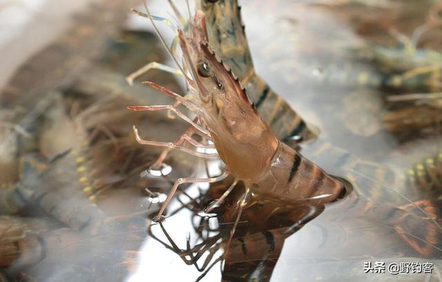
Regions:
M 151 18 L 149 12 L 148 16 Z M 206 154 L 201 150 L 200 152 L 190 150 L 181 145 L 182 142 L 188 141 L 196 148 L 207 148 L 207 145 L 191 138 L 193 133 L 199 134 L 213 142 L 213 147 L 217 150 L 220 159 L 224 161 L 226 170 L 220 177 L 177 179 L 154 220 L 162 220 L 162 213 L 179 185 L 211 183 L 220 181 L 230 174 L 235 178 L 234 183 L 242 181 L 246 187 L 241 207 L 245 205 L 251 193 L 279 201 L 303 202 L 311 205 L 329 203 L 342 197 L 345 194 L 343 183 L 329 176 L 296 150 L 280 142 L 271 133 L 253 103 L 249 101 L 236 75 L 217 58 L 209 46 L 204 17 L 204 13 L 198 11 L 195 18 L 189 20 L 190 31 L 187 34 L 178 30 L 184 68 L 179 64 L 177 66 L 183 74 L 186 73 L 184 69 L 189 70 L 193 78 L 184 76 L 189 88 L 186 99 L 160 85 L 147 82 L 148 85 L 174 97 L 194 112 L 197 117 L 195 120 L 198 119 L 200 125 L 195 123 L 195 120 L 191 121 L 185 117 L 173 105 L 129 108 L 131 110 L 173 110 L 179 117 L 193 125 L 191 134 L 186 132 L 174 143 L 143 140 L 134 126 L 135 137 L 139 143 L 175 148 L 198 157 L 213 157 L 213 154 Z M 153 25 L 155 27 L 155 24 Z M 229 190 L 212 206 L 218 205 L 233 187 L 234 185 L 231 185 Z M 238 218 L 240 214 L 241 212 Z

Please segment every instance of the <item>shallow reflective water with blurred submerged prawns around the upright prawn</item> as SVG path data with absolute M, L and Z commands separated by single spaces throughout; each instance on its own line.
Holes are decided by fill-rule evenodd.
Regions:
M 149 218 L 160 208 L 152 192 L 164 201 L 171 182 L 204 175 L 203 168 L 195 158 L 176 153 L 167 161 L 172 167 L 167 177 L 140 177 L 161 151 L 137 145 L 131 126 L 137 125 L 146 139 L 170 141 L 185 124 L 166 119 L 165 113 L 125 110 L 128 105 L 172 103 L 139 81 L 133 88 L 124 81 L 144 63 L 164 61 L 166 54 L 152 34 L 138 30 L 150 23 L 124 12 L 130 4 L 115 4 L 109 10 L 98 6 L 79 17 L 79 26 L 55 45 L 30 59 L 3 88 L 3 123 L 17 123 L 25 133 L 17 127 L 1 132 L 4 140 L 13 136 L 9 150 L 1 151 L 3 171 L 11 171 L 2 174 L 2 184 L 19 181 L 31 187 L 25 191 L 30 191 L 32 204 L 1 215 L 5 224 L 0 225 L 0 266 L 5 278 L 1 270 L 0 281 L 195 281 L 205 270 L 202 281 L 442 280 L 437 201 L 442 187 L 438 182 L 431 188 L 410 185 L 405 177 L 416 163 L 441 151 L 441 108 L 436 108 L 435 117 L 425 109 L 412 112 L 423 112 L 430 121 L 407 121 L 393 132 L 386 114 L 424 103 L 392 104 L 386 97 L 422 91 L 383 87 L 386 73 L 397 70 L 378 68 L 359 53 L 367 42 L 398 48 L 392 30 L 410 37 L 429 9 L 437 7 L 432 6 L 436 1 L 267 2 L 241 3 L 256 72 L 318 129 L 318 138 L 302 143 L 300 150 L 320 168 L 347 179 L 349 195 L 316 207 L 256 195 L 227 246 L 241 188 L 206 219 L 201 210 L 228 186 L 192 185 L 184 190 L 188 196 L 180 192 L 168 208 L 167 214 L 173 215 L 164 222 L 164 230 L 181 251 L 188 248 L 189 236 L 190 248 L 207 243 L 213 256 L 207 259 L 210 252 L 202 252 L 198 265 L 207 265 L 198 271 L 182 260 L 198 254 L 198 248 L 186 256 L 164 248 L 159 239 L 171 242 Z M 149 5 L 152 12 L 167 17 L 165 3 Z M 185 11 L 184 5 L 179 7 Z M 424 32 L 418 47 L 441 52 L 440 30 Z M 169 28 L 161 32 L 170 40 Z M 143 79 L 182 92 L 171 75 L 153 72 Z M 39 110 L 37 102 L 47 96 L 48 105 Z M 21 122 L 32 109 L 37 110 L 32 122 Z M 23 161 L 19 164 L 29 152 L 61 157 L 42 161 L 40 175 Z M 211 164 L 213 175 L 219 174 L 219 166 Z M 191 205 L 184 206 L 189 201 Z M 17 220 L 15 225 L 10 219 Z M 24 256 L 9 266 L 20 252 Z M 365 273 L 364 263 L 376 261 L 386 267 L 433 263 L 432 274 Z M 215 264 L 209 268 L 211 263 Z

